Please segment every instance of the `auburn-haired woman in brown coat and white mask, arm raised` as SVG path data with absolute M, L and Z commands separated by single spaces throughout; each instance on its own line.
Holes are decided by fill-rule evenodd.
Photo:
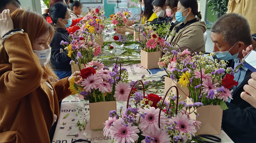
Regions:
M 49 143 L 58 101 L 71 94 L 75 73 L 54 84 L 49 80 L 57 77 L 49 65 L 54 28 L 39 13 L 16 10 L 10 16 L 4 10 L 0 25 L 0 142 Z

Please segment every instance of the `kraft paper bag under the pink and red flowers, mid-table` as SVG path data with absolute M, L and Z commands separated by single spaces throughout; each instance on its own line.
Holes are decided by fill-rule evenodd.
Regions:
M 140 65 L 146 69 L 159 68 L 158 62 L 161 57 L 161 52 L 146 52 L 140 50 Z

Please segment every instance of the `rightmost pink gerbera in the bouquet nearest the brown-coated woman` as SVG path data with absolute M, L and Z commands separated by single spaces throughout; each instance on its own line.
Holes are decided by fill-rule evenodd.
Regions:
M 126 82 L 119 81 L 118 84 L 116 85 L 116 91 L 114 94 L 114 97 L 116 97 L 116 100 L 119 102 L 126 101 L 129 93 L 130 93 L 129 84 L 126 84 Z

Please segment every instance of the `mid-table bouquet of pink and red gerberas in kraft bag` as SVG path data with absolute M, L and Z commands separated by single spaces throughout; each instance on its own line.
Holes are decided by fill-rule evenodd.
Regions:
M 158 61 L 161 57 L 160 47 L 167 42 L 149 27 L 144 27 L 144 30 L 140 30 L 140 32 L 144 36 L 144 44 L 140 43 L 142 47 L 141 65 L 146 69 L 158 68 Z

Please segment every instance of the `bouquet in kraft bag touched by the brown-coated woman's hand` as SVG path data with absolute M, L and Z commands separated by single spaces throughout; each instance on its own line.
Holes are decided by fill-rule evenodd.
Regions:
M 124 102 L 128 98 L 128 72 L 121 63 L 120 69 L 114 64 L 112 70 L 97 61 L 88 64 L 81 70 L 81 79 L 72 80 L 69 89 L 72 95 L 80 93 L 89 100 L 91 130 L 102 130 L 101 123 L 108 119 L 109 110 L 116 110 L 116 100 Z

